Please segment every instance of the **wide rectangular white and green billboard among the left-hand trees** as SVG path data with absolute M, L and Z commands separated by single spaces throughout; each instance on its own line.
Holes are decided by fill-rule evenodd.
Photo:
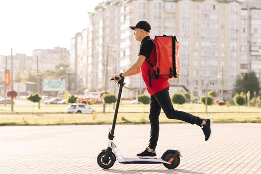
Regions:
M 44 91 L 60 91 L 65 90 L 65 79 L 49 79 L 43 82 Z

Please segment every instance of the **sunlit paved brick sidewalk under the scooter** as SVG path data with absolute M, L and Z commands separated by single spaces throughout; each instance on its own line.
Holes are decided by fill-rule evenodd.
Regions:
M 111 125 L 0 127 L 0 174 L 261 174 L 261 124 L 214 124 L 210 141 L 190 124 L 161 124 L 157 154 L 180 150 L 180 165 L 122 165 L 101 169 Z M 125 157 L 148 144 L 150 125 L 116 125 L 115 142 Z

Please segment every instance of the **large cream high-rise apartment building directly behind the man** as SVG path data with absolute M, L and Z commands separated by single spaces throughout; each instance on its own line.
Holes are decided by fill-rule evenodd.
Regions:
M 240 67 L 244 67 L 240 58 L 241 6 L 242 2 L 237 0 L 99 3 L 94 12 L 89 13 L 87 87 L 113 90 L 113 83 L 105 83 L 106 75 L 110 77 L 126 70 L 137 58 L 140 43 L 134 39 L 129 26 L 147 20 L 152 26 L 152 38 L 167 34 L 176 35 L 180 41 L 180 77 L 170 81 L 172 86 L 193 89 L 194 97 L 199 97 L 205 93 L 207 81 L 208 89 L 217 90 L 221 96 L 223 88 L 224 99 L 231 97 L 236 76 L 242 70 Z M 126 78 L 126 87 L 136 90 L 136 95 L 145 86 L 138 75 Z

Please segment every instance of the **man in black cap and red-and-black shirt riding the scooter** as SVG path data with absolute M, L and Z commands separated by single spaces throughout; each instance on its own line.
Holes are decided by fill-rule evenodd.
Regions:
M 119 81 L 123 77 L 133 76 L 141 73 L 142 78 L 145 82 L 147 90 L 150 94 L 150 124 L 151 124 L 151 137 L 149 146 L 146 150 L 140 154 L 137 154 L 138 158 L 149 158 L 155 159 L 156 156 L 156 146 L 159 138 L 159 116 L 161 113 L 161 108 L 163 109 L 166 116 L 170 119 L 177 119 L 188 122 L 190 124 L 196 124 L 200 126 L 205 135 L 205 141 L 208 141 L 211 135 L 212 120 L 211 119 L 201 119 L 194 115 L 186 112 L 177 111 L 174 109 L 171 97 L 169 94 L 170 84 L 168 80 L 163 78 L 151 79 L 152 86 L 149 83 L 149 64 L 145 61 L 146 58 L 150 57 L 152 48 L 154 47 L 153 42 L 150 40 L 150 29 L 151 26 L 146 21 L 139 21 L 136 26 L 130 26 L 131 29 L 135 30 L 135 39 L 141 42 L 140 51 L 138 58 L 134 64 L 132 64 L 125 72 L 119 75 L 115 74 L 111 79 L 115 80 L 115 77 Z M 151 73 L 152 73 L 151 68 Z M 116 79 L 117 79 L 116 78 Z

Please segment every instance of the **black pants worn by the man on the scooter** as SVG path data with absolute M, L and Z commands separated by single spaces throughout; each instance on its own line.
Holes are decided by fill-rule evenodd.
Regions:
M 190 124 L 196 124 L 200 126 L 203 119 L 196 117 L 192 114 L 175 110 L 169 94 L 169 87 L 159 91 L 150 98 L 150 123 L 151 123 L 151 138 L 149 147 L 156 149 L 157 142 L 159 139 L 159 116 L 161 108 L 163 109 L 166 116 L 170 119 L 182 120 Z

